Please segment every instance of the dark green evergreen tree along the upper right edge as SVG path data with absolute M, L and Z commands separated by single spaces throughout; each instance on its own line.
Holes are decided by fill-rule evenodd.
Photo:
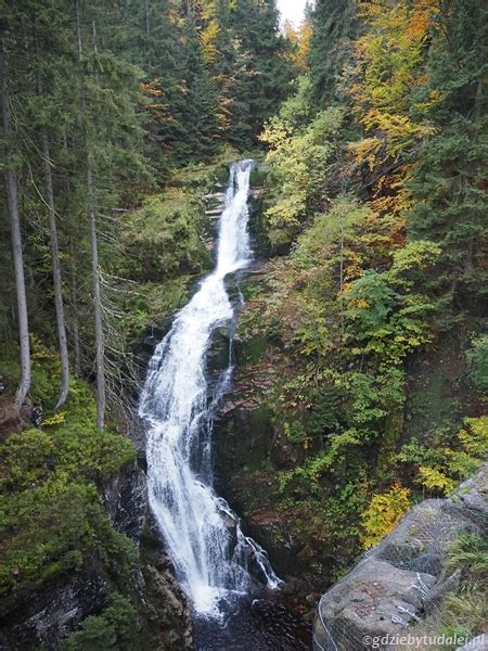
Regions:
M 433 16 L 428 78 L 414 111 L 438 131 L 419 155 L 411 182 L 412 239 L 441 244 L 437 292 L 454 308 L 479 312 L 486 301 L 488 98 L 485 91 L 488 21 L 483 2 L 440 3 Z M 434 98 L 434 101 L 433 101 Z M 424 108 L 424 107 L 427 108 Z

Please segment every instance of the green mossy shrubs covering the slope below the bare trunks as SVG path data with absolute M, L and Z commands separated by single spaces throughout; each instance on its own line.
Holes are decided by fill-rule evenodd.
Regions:
M 48 354 L 35 363 L 38 378 L 49 373 Z M 48 384 L 39 386 L 49 403 Z M 112 528 L 95 482 L 134 460 L 136 449 L 92 425 L 93 403 L 88 385 L 73 379 L 54 426 L 13 433 L 0 448 L 0 595 L 78 567 L 87 554 L 102 565 L 117 562 L 120 572 L 132 562 L 132 544 Z

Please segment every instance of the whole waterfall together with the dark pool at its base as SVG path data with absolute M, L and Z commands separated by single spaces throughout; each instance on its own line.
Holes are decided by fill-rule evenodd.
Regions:
M 282 582 L 266 551 L 244 535 L 237 515 L 213 487 L 213 421 L 233 369 L 229 359 L 210 387 L 207 359 L 213 333 L 234 319 L 226 278 L 252 261 L 253 167 L 253 161 L 231 166 L 215 269 L 156 347 L 139 408 L 147 423 L 150 506 L 193 604 L 198 651 L 307 648 L 298 640 L 300 623 L 269 599 Z

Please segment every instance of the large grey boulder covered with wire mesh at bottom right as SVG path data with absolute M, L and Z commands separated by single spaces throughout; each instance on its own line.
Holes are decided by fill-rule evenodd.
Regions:
M 488 465 L 447 499 L 429 499 L 404 515 L 397 528 L 320 600 L 314 649 L 395 649 L 388 636 L 425 622 L 460 580 L 448 574 L 449 545 L 463 532 L 488 535 Z M 383 640 L 383 641 L 382 641 Z

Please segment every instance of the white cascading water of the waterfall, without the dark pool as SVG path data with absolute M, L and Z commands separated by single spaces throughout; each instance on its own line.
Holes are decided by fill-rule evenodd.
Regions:
M 253 161 L 231 167 L 216 268 L 157 346 L 139 409 L 149 423 L 151 509 L 196 613 L 210 616 L 220 614 L 221 599 L 248 588 L 249 558 L 269 587 L 280 584 L 266 552 L 244 536 L 239 519 L 211 485 L 206 357 L 214 330 L 233 317 L 224 278 L 244 268 L 251 258 L 247 202 L 252 168 Z M 231 370 L 229 366 L 223 373 L 221 392 Z

